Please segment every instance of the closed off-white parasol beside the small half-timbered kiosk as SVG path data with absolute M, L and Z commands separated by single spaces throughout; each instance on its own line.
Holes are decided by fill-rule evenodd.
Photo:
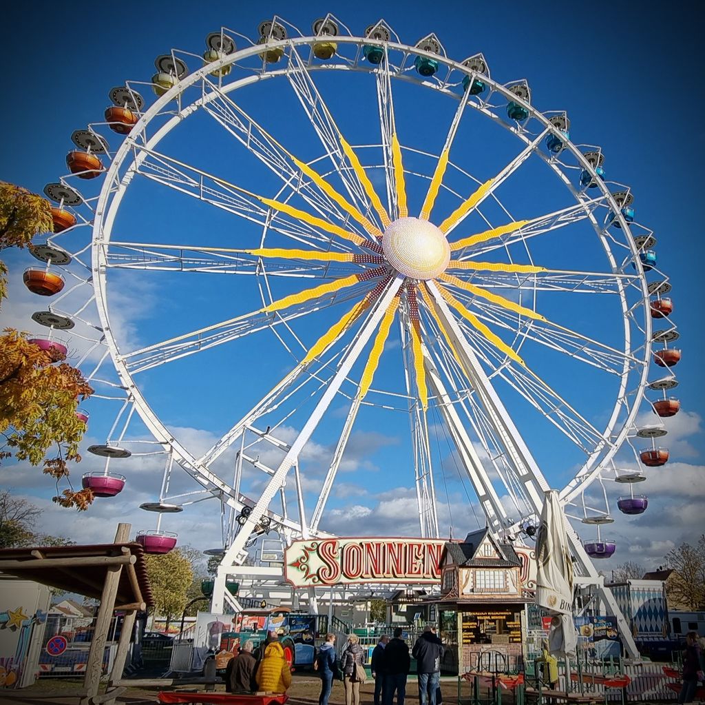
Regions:
M 556 490 L 546 492 L 536 542 L 536 603 L 553 615 L 548 651 L 575 656 L 577 636 L 572 621 L 573 567 L 565 533 L 565 517 Z

